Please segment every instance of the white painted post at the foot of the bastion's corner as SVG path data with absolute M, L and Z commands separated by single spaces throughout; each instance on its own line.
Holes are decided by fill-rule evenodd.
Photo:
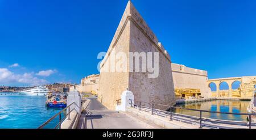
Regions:
M 131 101 L 134 100 L 133 92 L 131 91 L 124 91 L 121 96 L 121 105 L 117 105 L 116 110 L 117 111 L 126 111 L 127 107 L 131 106 Z

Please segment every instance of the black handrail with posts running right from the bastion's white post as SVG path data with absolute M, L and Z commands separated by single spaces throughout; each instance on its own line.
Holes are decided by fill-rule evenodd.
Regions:
M 206 110 L 201 110 L 201 109 L 190 109 L 190 108 L 182 108 L 182 107 L 174 107 L 172 105 L 163 105 L 163 104 L 153 104 L 153 103 L 148 103 L 146 101 L 139 101 L 139 105 L 135 104 L 134 103 L 134 100 L 131 100 L 129 99 L 130 101 L 130 105 L 131 107 L 139 107 L 139 111 L 141 111 L 142 109 L 141 108 L 145 108 L 145 109 L 148 109 L 148 111 L 152 111 L 152 114 L 155 114 L 154 111 L 159 111 L 159 112 L 163 112 L 163 113 L 170 113 L 170 121 L 172 121 L 172 115 L 173 114 L 176 114 L 176 113 L 172 113 L 172 109 L 173 108 L 176 108 L 176 109 L 184 109 L 184 110 L 188 110 L 188 111 L 197 111 L 197 112 L 200 112 L 200 117 L 199 118 L 195 118 L 196 120 L 199 120 L 200 121 L 200 128 L 203 128 L 203 124 L 202 124 L 202 121 L 208 121 L 208 122 L 212 122 L 211 120 L 207 120 L 207 119 L 204 119 L 202 117 L 202 113 L 203 112 L 208 112 L 208 113 L 219 113 L 219 114 L 234 114 L 234 115 L 246 115 L 246 116 L 249 116 L 249 124 L 239 124 L 237 122 L 234 123 L 234 125 L 241 125 L 241 126 L 249 126 L 249 129 L 251 129 L 251 126 L 256 126 L 255 123 L 252 124 L 251 123 L 251 116 L 256 116 L 256 113 L 230 113 L 230 112 L 217 112 L 217 111 L 206 111 Z M 142 103 L 146 103 L 148 105 L 152 105 L 152 107 L 146 107 L 146 106 L 142 106 L 141 104 Z M 160 105 L 160 106 L 163 106 L 163 107 L 168 107 L 170 108 L 170 111 L 162 111 L 162 110 L 159 110 L 159 109 L 155 109 L 155 106 L 156 105 Z M 192 116 L 192 117 L 196 117 L 196 116 Z M 189 117 L 188 117 L 189 118 Z M 234 121 L 230 121 L 230 123 L 232 123 Z M 225 124 L 225 123 L 223 123 Z

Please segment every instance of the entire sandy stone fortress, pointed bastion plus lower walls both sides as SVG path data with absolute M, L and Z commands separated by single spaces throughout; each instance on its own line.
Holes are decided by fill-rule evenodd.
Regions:
M 113 71 L 111 60 L 119 52 L 125 53 L 126 56 L 129 56 L 129 52 L 158 52 L 159 77 L 150 79 L 148 72 L 129 73 L 131 63 L 129 59 L 127 60 L 127 72 Z M 114 60 L 114 62 L 117 63 L 118 60 Z M 98 100 L 109 109 L 115 109 L 116 101 L 121 99 L 122 92 L 126 90 L 133 92 L 135 102 L 146 101 L 165 105 L 174 105 L 177 97 L 188 99 L 187 97 L 207 98 L 222 95 L 218 91 L 217 94 L 212 92 L 209 83 L 215 82 L 219 86 L 223 79 L 208 79 L 208 72 L 205 70 L 193 69 L 171 62 L 170 54 L 164 49 L 162 43 L 159 43 L 130 1 L 100 68 L 100 74 L 82 79 L 76 89 L 80 92 L 98 94 Z M 240 97 L 241 95 L 253 96 L 251 92 L 249 95 L 243 89 L 255 90 L 252 86 L 256 83 L 256 78 L 243 77 L 241 82 L 241 90 L 236 91 Z M 230 96 L 230 91 L 228 91 L 227 96 L 234 97 L 238 94 Z M 185 96 L 183 97 L 183 95 Z

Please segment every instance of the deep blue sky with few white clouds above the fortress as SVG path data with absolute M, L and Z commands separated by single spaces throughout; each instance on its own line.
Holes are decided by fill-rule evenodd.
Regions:
M 132 2 L 172 62 L 210 79 L 256 75 L 256 1 Z M 98 73 L 97 54 L 108 50 L 126 3 L 0 0 L 0 84 L 79 83 Z

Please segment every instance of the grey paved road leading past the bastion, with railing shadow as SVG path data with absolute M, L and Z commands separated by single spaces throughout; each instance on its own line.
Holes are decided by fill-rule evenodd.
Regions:
M 87 129 L 155 129 L 161 128 L 154 124 L 148 124 L 140 119 L 129 116 L 126 113 L 110 111 L 102 105 L 96 97 L 89 97 L 90 104 L 87 111 L 85 128 Z

